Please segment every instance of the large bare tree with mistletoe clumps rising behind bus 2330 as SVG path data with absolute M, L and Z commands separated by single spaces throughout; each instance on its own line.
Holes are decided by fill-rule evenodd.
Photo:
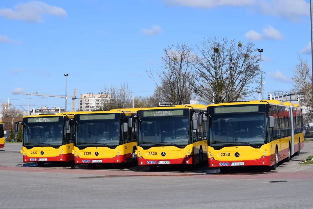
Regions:
M 208 102 L 223 103 L 251 96 L 260 87 L 259 55 L 254 44 L 208 37 L 197 45 L 191 84 Z

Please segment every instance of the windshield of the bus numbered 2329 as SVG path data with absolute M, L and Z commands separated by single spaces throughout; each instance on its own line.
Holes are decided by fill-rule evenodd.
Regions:
M 141 121 L 141 122 L 140 122 Z M 188 145 L 189 117 L 143 117 L 139 120 L 140 146 Z

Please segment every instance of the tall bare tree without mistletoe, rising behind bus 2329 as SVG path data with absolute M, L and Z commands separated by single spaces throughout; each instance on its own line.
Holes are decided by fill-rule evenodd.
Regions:
M 193 89 L 190 85 L 194 64 L 192 50 L 186 43 L 164 48 L 161 69 L 156 72 L 157 81 L 154 77 L 154 68 L 146 70 L 156 84 L 156 94 L 162 102 L 177 105 L 189 103 L 192 99 Z

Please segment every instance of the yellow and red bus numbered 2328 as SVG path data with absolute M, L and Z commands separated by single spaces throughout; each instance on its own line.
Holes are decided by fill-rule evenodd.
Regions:
M 97 163 L 136 163 L 136 120 L 132 118 L 139 109 L 75 114 L 75 164 L 95 167 Z

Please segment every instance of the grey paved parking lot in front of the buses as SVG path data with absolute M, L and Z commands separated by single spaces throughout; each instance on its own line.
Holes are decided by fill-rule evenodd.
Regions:
M 300 156 L 272 172 L 220 174 L 195 169 L 121 166 L 37 167 L 22 162 L 20 144 L 0 149 L 1 208 L 313 208 L 313 167 Z

